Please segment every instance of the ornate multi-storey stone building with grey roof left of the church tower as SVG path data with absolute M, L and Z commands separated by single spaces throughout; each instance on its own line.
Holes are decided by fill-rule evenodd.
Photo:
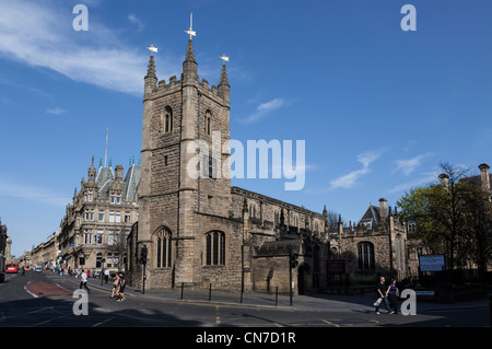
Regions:
M 60 223 L 57 267 L 124 269 L 126 236 L 138 220 L 139 183 L 140 166 L 134 163 L 124 177 L 122 166 L 99 164 L 96 170 L 92 159 L 87 181 L 82 178 L 79 193 L 75 188 Z

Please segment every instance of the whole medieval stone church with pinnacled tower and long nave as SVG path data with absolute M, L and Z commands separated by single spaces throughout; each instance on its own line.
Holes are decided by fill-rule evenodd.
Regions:
M 143 246 L 145 288 L 213 284 L 286 292 L 290 251 L 298 255 L 295 292 L 327 283 L 325 263 L 335 252 L 353 256 L 351 274 L 375 275 L 379 266 L 405 272 L 405 230 L 386 210 L 377 210 L 371 228 L 340 225 L 330 234 L 326 208 L 318 213 L 231 186 L 230 89 L 225 65 L 216 86 L 199 80 L 191 39 L 179 79 L 160 81 L 151 55 L 144 77 L 139 221 L 128 241 L 127 280 L 142 284 Z M 358 256 L 368 258 L 362 270 Z

